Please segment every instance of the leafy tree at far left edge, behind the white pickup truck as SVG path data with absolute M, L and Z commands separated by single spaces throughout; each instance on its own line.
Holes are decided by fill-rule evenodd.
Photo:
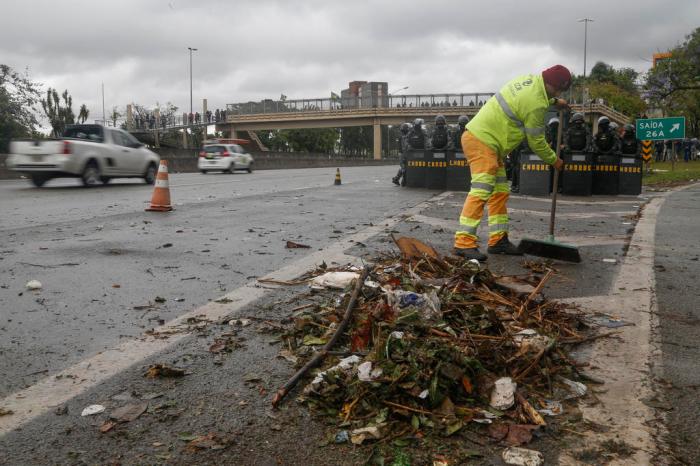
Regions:
M 7 152 L 10 140 L 35 134 L 39 84 L 0 64 L 0 152 Z

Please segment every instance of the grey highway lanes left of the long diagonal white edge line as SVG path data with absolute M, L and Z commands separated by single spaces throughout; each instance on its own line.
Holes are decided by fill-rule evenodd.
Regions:
M 1 182 L 0 396 L 306 253 L 287 240 L 317 250 L 434 194 L 396 188 L 395 170 L 345 168 L 341 186 L 329 168 L 171 175 L 171 213 L 144 212 L 138 181 Z

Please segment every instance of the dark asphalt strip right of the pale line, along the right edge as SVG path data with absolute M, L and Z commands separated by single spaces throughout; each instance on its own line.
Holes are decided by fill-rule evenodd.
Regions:
M 700 185 L 672 193 L 656 226 L 654 268 L 661 345 L 661 399 L 675 459 L 700 464 Z

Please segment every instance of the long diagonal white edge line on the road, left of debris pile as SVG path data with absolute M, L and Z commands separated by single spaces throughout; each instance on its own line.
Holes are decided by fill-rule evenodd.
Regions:
M 314 252 L 300 260 L 282 267 L 266 275 L 266 279 L 293 280 L 302 273 L 325 261 L 326 263 L 360 264 L 359 258 L 349 256 L 344 251 L 355 242 L 367 241 L 369 238 L 383 233 L 387 228 L 393 228 L 403 221 L 407 215 L 415 215 L 427 209 L 433 202 L 443 199 L 449 193 L 442 193 L 424 201 L 400 215 L 388 218 L 381 225 L 374 225 L 358 231 L 344 239 L 332 243 L 325 249 Z M 216 322 L 226 316 L 239 312 L 255 300 L 263 297 L 276 286 L 261 287 L 256 281 L 251 281 L 240 288 L 224 295 L 222 298 L 231 300 L 229 304 L 208 303 L 198 309 L 187 312 L 165 325 L 155 329 L 156 332 L 171 334 L 167 339 L 143 335 L 141 338 L 125 341 L 115 348 L 102 351 L 78 364 L 52 374 L 31 387 L 25 388 L 0 399 L 0 406 L 12 410 L 14 414 L 0 417 L 0 436 L 21 427 L 50 409 L 65 403 L 115 374 L 143 361 L 144 359 L 163 351 L 191 335 L 183 327 L 187 319 L 198 317 Z

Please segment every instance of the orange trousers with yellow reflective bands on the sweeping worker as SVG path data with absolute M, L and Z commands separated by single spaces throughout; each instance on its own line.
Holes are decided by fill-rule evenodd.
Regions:
M 476 230 L 484 214 L 489 211 L 489 246 L 496 244 L 508 233 L 508 179 L 503 161 L 470 132 L 462 134 L 462 147 L 469 162 L 472 186 L 459 216 L 460 230 L 455 233 L 456 248 L 477 247 Z

